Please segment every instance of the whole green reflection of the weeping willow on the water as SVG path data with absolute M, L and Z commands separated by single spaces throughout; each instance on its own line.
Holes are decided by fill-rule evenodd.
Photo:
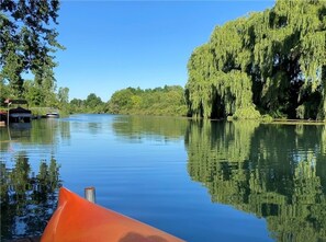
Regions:
M 265 217 L 278 241 L 326 240 L 325 127 L 192 123 L 188 170 L 215 203 Z

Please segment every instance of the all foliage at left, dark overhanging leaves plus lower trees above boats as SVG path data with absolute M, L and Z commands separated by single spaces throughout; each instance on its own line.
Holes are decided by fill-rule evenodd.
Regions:
M 26 99 L 32 107 L 60 107 L 65 113 L 69 90 L 56 93 L 53 71 L 54 54 L 64 49 L 56 41 L 59 1 L 4 0 L 0 8 L 0 105 L 5 99 Z M 24 72 L 34 79 L 24 80 Z

